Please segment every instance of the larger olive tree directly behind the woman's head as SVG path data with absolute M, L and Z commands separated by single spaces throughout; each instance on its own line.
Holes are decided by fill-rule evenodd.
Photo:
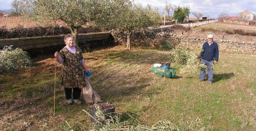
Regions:
M 78 29 L 92 21 L 100 0 L 24 0 L 24 14 L 41 22 L 65 22 L 78 45 Z

